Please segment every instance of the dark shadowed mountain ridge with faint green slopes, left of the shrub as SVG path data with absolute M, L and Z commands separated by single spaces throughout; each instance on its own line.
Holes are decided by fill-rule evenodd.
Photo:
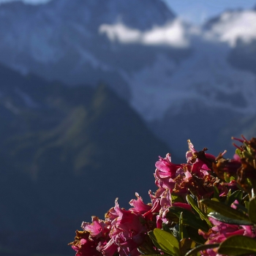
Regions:
M 3 66 L 0 85 L 0 255 L 72 255 L 82 221 L 148 201 L 168 149 L 124 99 Z

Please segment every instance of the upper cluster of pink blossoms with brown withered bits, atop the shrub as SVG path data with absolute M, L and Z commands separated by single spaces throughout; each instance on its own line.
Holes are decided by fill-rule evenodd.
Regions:
M 175 192 L 178 195 L 186 195 L 190 190 L 197 197 L 209 197 L 214 192 L 214 186 L 223 190 L 223 187 L 219 185 L 219 178 L 213 176 L 211 165 L 215 161 L 215 157 L 206 154 L 207 148 L 203 148 L 203 151 L 196 151 L 190 140 L 188 143 L 189 151 L 186 154 L 186 164 L 173 164 L 170 162 L 170 154 L 167 154 L 165 158 L 159 157 L 154 173 L 157 187 L 170 189 L 170 192 Z M 225 194 L 226 190 L 224 189 L 222 195 Z

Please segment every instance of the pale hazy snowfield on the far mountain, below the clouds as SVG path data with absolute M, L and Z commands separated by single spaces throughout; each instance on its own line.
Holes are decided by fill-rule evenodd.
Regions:
M 166 111 L 183 111 L 184 102 L 255 114 L 256 76 L 227 63 L 226 42 L 192 39 L 193 54 L 180 64 L 166 56 L 130 76 L 133 108 L 146 121 L 162 119 Z

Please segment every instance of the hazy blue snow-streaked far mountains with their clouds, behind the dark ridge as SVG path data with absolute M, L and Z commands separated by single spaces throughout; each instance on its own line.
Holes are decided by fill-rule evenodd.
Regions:
M 192 26 L 161 0 L 12 2 L 0 6 L 0 61 L 108 83 L 177 151 L 190 138 L 217 152 L 224 127 L 256 115 L 255 24 L 255 10 L 237 10 Z

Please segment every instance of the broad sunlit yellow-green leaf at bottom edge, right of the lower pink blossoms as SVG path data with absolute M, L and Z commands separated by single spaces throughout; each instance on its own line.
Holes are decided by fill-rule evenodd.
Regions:
M 163 252 L 173 256 L 180 256 L 178 240 L 172 234 L 159 228 L 154 229 L 154 237 L 157 239 L 157 244 Z

